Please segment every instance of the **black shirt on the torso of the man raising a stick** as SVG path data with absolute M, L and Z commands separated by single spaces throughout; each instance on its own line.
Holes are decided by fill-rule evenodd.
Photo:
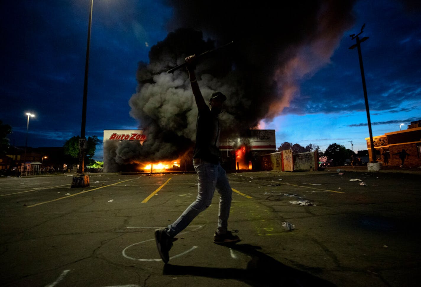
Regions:
M 194 159 L 217 164 L 219 162 L 219 133 L 218 115 L 206 108 L 199 110 L 196 124 L 196 146 Z

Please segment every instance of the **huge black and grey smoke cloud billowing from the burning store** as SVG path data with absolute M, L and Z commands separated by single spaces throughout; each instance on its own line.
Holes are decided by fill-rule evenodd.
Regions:
M 292 2 L 166 0 L 174 32 L 151 48 L 149 64 L 139 63 L 139 85 L 129 101 L 147 141 L 104 146 L 104 159 L 106 153 L 115 165 L 176 159 L 191 149 L 197 107 L 190 82 L 184 69 L 166 71 L 231 41 L 196 69 L 205 100 L 216 90 L 227 96 L 222 129 L 241 136 L 281 114 L 300 82 L 328 64 L 354 21 L 353 1 Z

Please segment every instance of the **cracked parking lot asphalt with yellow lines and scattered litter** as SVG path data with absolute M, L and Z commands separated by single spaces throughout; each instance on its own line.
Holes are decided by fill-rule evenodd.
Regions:
M 339 174 L 341 173 L 341 174 Z M 229 173 L 229 229 L 213 244 L 218 194 L 164 264 L 154 230 L 195 200 L 196 175 L 0 178 L 3 286 L 413 286 L 421 279 L 419 173 Z M 282 222 L 295 229 L 286 231 Z

